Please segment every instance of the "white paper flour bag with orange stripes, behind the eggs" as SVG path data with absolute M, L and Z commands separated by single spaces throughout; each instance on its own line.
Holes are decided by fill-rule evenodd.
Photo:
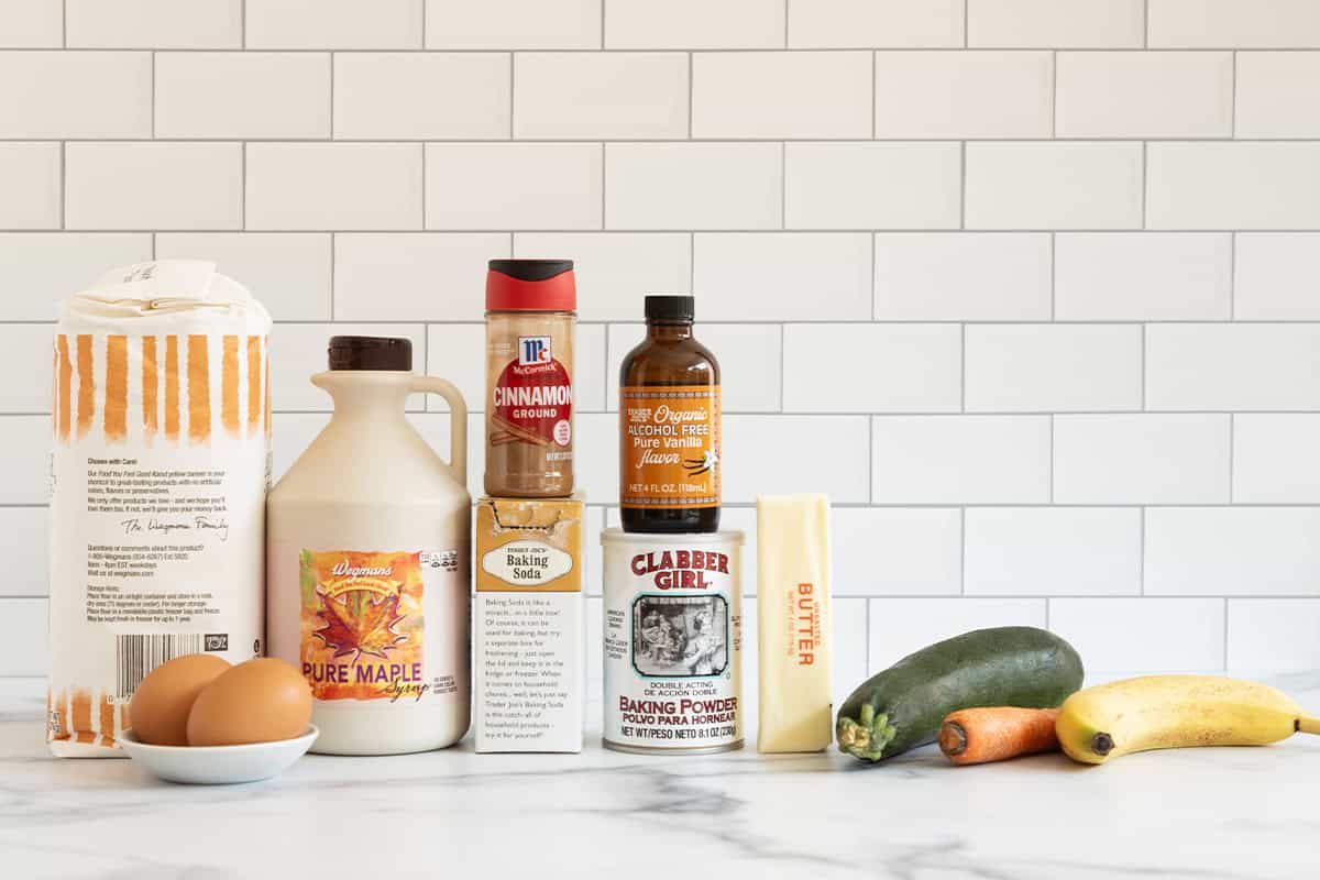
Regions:
M 50 690 L 59 757 L 119 756 L 180 654 L 261 653 L 271 317 L 199 260 L 116 269 L 54 338 Z

